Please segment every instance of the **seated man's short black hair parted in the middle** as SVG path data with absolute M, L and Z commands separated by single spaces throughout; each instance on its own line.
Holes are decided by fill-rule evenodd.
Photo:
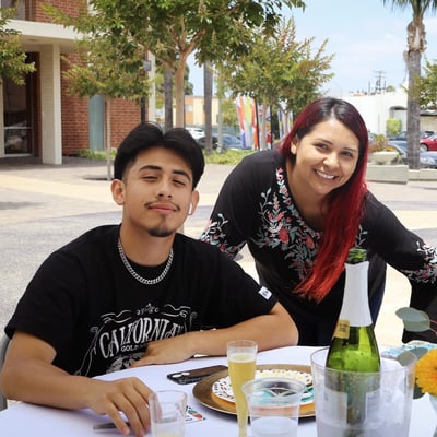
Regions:
M 152 122 L 138 125 L 121 142 L 114 161 L 114 177 L 122 179 L 138 154 L 154 146 L 168 149 L 186 161 L 192 172 L 194 189 L 204 170 L 204 157 L 200 145 L 184 128 L 174 128 L 164 133 L 158 125 Z

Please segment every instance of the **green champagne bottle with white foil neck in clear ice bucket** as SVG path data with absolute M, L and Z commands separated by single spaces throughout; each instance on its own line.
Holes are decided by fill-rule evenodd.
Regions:
M 371 412 L 373 398 L 378 395 L 380 370 L 378 344 L 375 338 L 367 293 L 366 250 L 352 248 L 345 269 L 343 305 L 327 356 L 327 368 L 369 373 L 368 378 L 332 373 L 327 378 L 330 389 L 346 397 L 346 422 L 359 425 Z M 374 403 L 375 404 L 375 403 Z

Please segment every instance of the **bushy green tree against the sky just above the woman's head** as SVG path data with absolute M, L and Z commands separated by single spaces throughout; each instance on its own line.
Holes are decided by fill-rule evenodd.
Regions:
M 314 38 L 297 42 L 294 20 L 280 23 L 272 33 L 253 29 L 252 42 L 245 56 L 218 67 L 234 95 L 248 95 L 264 108 L 275 106 L 285 114 L 297 114 L 333 76 L 326 72 L 333 58 L 323 55 L 327 40 L 318 49 L 311 47 Z

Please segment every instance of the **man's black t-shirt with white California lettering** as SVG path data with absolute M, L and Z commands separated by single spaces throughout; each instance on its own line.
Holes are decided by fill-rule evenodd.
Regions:
M 50 255 L 7 333 L 38 336 L 57 351 L 56 366 L 95 376 L 129 367 L 150 341 L 228 327 L 268 314 L 276 303 L 220 250 L 180 234 L 167 275 L 155 285 L 141 284 L 120 259 L 118 234 L 119 226 L 101 226 Z M 131 265 L 152 279 L 165 263 Z

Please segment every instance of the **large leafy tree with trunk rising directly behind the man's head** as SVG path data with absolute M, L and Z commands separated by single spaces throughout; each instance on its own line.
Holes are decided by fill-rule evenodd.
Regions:
M 60 14 L 91 39 L 106 38 L 119 63 L 142 51 L 155 55 L 162 71 L 175 76 L 176 126 L 185 126 L 184 74 L 189 55 L 199 64 L 239 56 L 250 45 L 248 28 L 273 28 L 281 8 L 302 0 L 90 0 L 78 16 Z M 138 59 L 138 58 L 137 58 Z M 131 66 L 133 68 L 133 66 Z M 119 67 L 123 69 L 122 66 Z

